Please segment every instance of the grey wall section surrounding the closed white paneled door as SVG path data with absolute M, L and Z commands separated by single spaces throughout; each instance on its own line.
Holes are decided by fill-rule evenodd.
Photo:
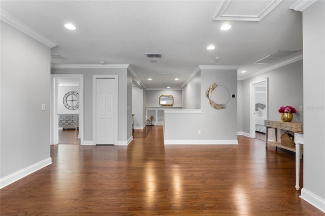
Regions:
M 125 68 L 86 68 L 86 69 L 58 69 L 52 68 L 51 74 L 82 74 L 84 76 L 84 140 L 91 142 L 92 139 L 92 75 L 118 75 L 118 142 L 125 143 L 129 138 L 128 130 L 132 133 L 132 93 L 128 95 L 127 69 Z M 132 84 L 131 84 L 132 88 Z M 132 91 L 132 90 L 131 90 Z M 129 99 L 127 97 L 130 97 Z M 127 105 L 130 105 L 129 112 Z M 127 117 L 127 115 L 131 117 Z M 130 129 L 127 129 L 130 127 Z

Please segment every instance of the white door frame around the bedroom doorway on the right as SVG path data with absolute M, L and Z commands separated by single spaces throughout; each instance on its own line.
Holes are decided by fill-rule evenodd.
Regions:
M 269 119 L 269 78 L 265 78 L 258 81 L 253 81 L 249 83 L 249 132 L 250 137 L 255 138 L 255 84 L 266 82 L 266 119 Z

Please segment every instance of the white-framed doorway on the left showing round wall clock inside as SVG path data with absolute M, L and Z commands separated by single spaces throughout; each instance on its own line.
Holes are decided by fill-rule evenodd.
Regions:
M 51 143 L 83 145 L 83 75 L 52 75 Z

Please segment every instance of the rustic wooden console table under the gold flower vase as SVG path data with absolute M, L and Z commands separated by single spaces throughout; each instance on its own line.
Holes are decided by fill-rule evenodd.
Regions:
M 287 130 L 287 131 L 293 131 L 298 133 L 303 133 L 303 123 L 302 122 L 281 122 L 281 121 L 271 121 L 271 120 L 265 120 L 265 127 L 266 127 L 266 147 L 268 144 L 280 147 L 282 149 L 286 149 L 289 151 L 296 152 L 296 148 L 291 148 L 287 146 L 281 145 L 281 141 L 278 140 L 278 129 Z M 275 129 L 275 141 L 269 141 L 269 128 Z

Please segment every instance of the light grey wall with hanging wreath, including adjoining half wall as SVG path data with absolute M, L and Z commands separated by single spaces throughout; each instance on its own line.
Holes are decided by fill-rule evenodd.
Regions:
M 165 111 L 165 144 L 237 144 L 237 97 L 229 99 L 226 109 L 216 110 L 205 97 L 212 83 L 218 86 L 213 91 L 216 103 L 226 102 L 230 94 L 237 93 L 237 70 L 201 69 L 202 113 L 192 111 Z M 174 112 L 174 113 L 173 113 Z M 193 111 L 194 112 L 194 111 Z M 198 134 L 198 131 L 201 134 Z

